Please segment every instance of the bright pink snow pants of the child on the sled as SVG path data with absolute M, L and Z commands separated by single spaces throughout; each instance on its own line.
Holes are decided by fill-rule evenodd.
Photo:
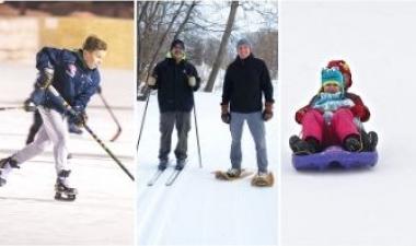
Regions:
M 354 124 L 354 115 L 348 108 L 334 112 L 331 124 L 327 125 L 322 112 L 310 108 L 302 120 L 302 138 L 315 138 L 322 147 L 342 145 L 350 134 L 359 136 Z

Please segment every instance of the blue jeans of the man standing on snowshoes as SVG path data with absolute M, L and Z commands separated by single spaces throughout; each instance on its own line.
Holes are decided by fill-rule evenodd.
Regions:
M 231 164 L 233 168 L 241 168 L 242 152 L 241 137 L 243 134 L 244 121 L 247 121 L 250 132 L 256 145 L 257 168 L 258 172 L 267 172 L 267 148 L 266 130 L 262 117 L 262 112 L 242 114 L 231 112 Z

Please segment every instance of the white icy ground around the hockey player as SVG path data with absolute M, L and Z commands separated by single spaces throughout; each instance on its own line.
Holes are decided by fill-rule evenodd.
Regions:
M 0 71 L 0 106 L 22 105 L 36 70 L 33 66 L 1 63 Z M 116 142 L 108 141 L 117 128 L 99 96 L 90 103 L 89 125 L 134 172 L 134 72 L 104 69 L 102 85 L 123 133 Z M 0 154 L 5 157 L 23 148 L 32 114 L 8 110 L 0 115 Z M 54 200 L 51 149 L 22 164 L 0 188 L 1 245 L 134 244 L 134 183 L 86 132 L 71 134 L 69 150 L 73 154 L 71 181 L 79 189 L 77 200 Z

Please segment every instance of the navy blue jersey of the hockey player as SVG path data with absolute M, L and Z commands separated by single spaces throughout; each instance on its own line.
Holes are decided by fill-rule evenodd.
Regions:
M 97 69 L 89 69 L 82 58 L 82 50 L 68 50 L 44 47 L 36 55 L 36 68 L 54 69 L 53 86 L 72 106 L 84 109 L 100 85 Z M 47 94 L 43 105 L 63 112 L 55 96 Z

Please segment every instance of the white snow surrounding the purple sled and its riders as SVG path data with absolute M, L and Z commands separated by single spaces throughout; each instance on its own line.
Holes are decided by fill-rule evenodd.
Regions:
M 415 245 L 414 83 L 416 2 L 322 1 L 280 4 L 281 245 Z M 380 136 L 372 169 L 298 173 L 290 134 L 330 59 L 350 65 Z

